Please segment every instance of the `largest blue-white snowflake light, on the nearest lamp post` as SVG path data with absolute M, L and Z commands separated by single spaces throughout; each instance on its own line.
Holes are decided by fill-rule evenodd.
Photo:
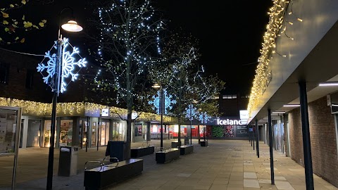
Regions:
M 67 87 L 67 83 L 65 82 L 65 78 L 71 77 L 71 80 L 74 81 L 77 79 L 78 74 L 73 72 L 75 70 L 75 65 L 82 68 L 86 66 L 87 61 L 85 58 L 81 58 L 79 54 L 79 49 L 77 47 L 73 47 L 73 51 L 69 52 L 66 51 L 66 48 L 68 46 L 72 47 L 69 42 L 68 38 L 63 38 L 61 42 L 62 47 L 62 61 L 61 61 L 61 81 L 60 81 L 60 89 L 56 89 L 54 87 L 53 89 L 56 89 L 57 91 L 60 90 L 61 93 L 65 91 Z M 54 42 L 54 49 L 58 49 L 58 42 Z M 53 47 L 51 49 L 53 49 Z M 78 61 L 75 61 L 75 56 L 80 56 L 80 59 Z M 45 58 L 49 58 L 49 61 L 47 61 L 46 65 L 44 63 L 39 63 L 37 65 L 37 71 L 43 72 L 44 70 L 48 73 L 48 75 L 43 77 L 44 83 L 51 84 L 51 81 L 53 81 L 53 77 L 55 75 L 55 69 L 56 69 L 56 61 L 57 56 L 56 53 L 52 53 L 51 51 L 47 51 L 45 53 Z M 44 61 L 44 60 L 43 60 Z M 42 62 L 43 62 L 42 61 Z

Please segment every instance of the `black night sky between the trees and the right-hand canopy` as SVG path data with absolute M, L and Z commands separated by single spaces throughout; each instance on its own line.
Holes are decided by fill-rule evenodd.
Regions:
M 268 25 L 270 0 L 161 0 L 170 27 L 180 25 L 200 40 L 206 72 L 226 82 L 225 93 L 249 94 Z

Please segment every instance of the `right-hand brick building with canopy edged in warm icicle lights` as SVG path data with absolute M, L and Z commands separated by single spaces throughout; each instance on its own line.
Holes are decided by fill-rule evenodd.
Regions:
M 337 7 L 275 1 L 248 104 L 261 140 L 305 167 L 306 189 L 312 172 L 338 187 Z

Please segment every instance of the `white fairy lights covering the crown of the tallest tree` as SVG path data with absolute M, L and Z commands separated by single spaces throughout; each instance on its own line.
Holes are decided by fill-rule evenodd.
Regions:
M 98 72 L 94 83 L 97 87 L 106 85 L 115 89 L 118 102 L 119 99 L 126 101 L 129 93 L 137 96 L 139 93 L 134 92 L 134 85 L 139 75 L 144 75 L 149 65 L 157 63 L 154 56 L 161 53 L 163 22 L 156 18 L 149 0 L 111 2 L 98 9 L 100 36 L 97 49 L 98 61 L 111 77 L 103 79 L 103 73 Z

